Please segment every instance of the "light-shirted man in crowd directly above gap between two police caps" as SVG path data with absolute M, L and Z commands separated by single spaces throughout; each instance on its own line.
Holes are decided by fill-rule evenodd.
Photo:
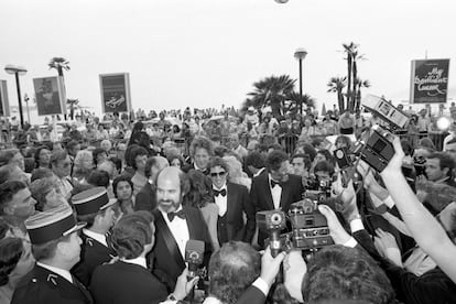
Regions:
M 63 197 L 68 200 L 72 196 L 73 181 L 69 174 L 72 173 L 72 161 L 66 151 L 53 151 L 51 155 L 51 169 L 55 176 L 58 177 L 57 187 Z

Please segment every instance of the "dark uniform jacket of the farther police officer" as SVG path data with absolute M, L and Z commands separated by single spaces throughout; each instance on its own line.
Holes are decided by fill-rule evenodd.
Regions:
M 80 261 L 73 267 L 72 273 L 85 286 L 88 286 L 95 268 L 108 263 L 112 258 L 117 257 L 117 253 L 112 249 L 108 237 L 108 247 L 86 236 L 84 231 L 80 234 L 80 239 L 83 240 L 80 246 Z

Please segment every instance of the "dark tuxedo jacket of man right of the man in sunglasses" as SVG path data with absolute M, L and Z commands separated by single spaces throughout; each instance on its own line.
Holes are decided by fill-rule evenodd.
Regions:
M 302 199 L 304 187 L 301 176 L 290 174 L 289 180 L 282 184 L 282 194 L 280 197 L 280 209 L 287 213 L 290 205 Z M 274 203 L 272 200 L 269 174 L 267 171 L 258 175 L 252 181 L 250 189 L 250 199 L 254 211 L 273 210 Z M 263 247 L 264 239 L 268 237 L 267 231 L 260 229 L 258 234 L 258 243 Z

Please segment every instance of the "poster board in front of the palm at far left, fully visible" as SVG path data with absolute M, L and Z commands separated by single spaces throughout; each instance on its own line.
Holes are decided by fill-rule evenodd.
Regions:
M 66 96 L 62 77 L 33 78 L 39 116 L 65 115 Z

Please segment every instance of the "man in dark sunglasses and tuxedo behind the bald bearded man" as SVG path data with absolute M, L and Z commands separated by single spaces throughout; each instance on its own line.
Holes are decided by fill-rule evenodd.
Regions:
M 220 246 L 230 240 L 250 242 L 254 234 L 254 209 L 247 187 L 227 182 L 228 165 L 218 156 L 209 162 L 209 175 L 218 206 L 218 242 Z M 242 214 L 247 215 L 247 225 Z

